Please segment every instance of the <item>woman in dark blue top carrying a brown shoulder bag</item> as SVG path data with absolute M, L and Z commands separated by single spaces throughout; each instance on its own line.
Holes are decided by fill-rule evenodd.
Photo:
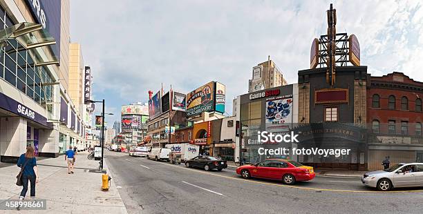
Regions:
M 34 157 L 34 147 L 26 147 L 26 153 L 23 153 L 21 157 L 19 157 L 17 166 L 21 167 L 21 172 L 17 176 L 17 185 L 21 184 L 19 186 L 23 187 L 19 200 L 25 198 L 26 192 L 28 191 L 28 181 L 31 183 L 31 199 L 35 199 L 35 183 L 38 183 L 38 168 L 37 160 Z

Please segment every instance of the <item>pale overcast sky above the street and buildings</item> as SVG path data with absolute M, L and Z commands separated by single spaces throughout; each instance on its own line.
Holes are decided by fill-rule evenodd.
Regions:
M 148 90 L 188 93 L 226 85 L 226 111 L 247 93 L 252 67 L 276 62 L 289 84 L 310 67 L 312 39 L 326 34 L 330 1 L 72 0 L 71 41 L 93 71 L 93 96 L 106 99 L 110 125 L 120 106 Z M 372 75 L 404 72 L 423 81 L 419 1 L 336 1 L 337 32 L 355 34 Z M 97 110 L 100 109 L 97 107 Z M 109 125 L 109 126 L 110 126 Z

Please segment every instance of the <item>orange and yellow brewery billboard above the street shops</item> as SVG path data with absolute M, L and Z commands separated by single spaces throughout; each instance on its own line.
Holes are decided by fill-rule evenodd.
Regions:
M 214 81 L 187 94 L 187 117 L 214 110 Z

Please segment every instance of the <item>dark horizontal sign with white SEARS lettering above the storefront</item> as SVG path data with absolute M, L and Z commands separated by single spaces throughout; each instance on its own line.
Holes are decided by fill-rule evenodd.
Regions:
M 8 110 L 19 116 L 26 117 L 32 121 L 36 121 L 44 126 L 48 126 L 46 117 L 41 116 L 39 113 L 36 113 L 34 110 L 28 108 L 28 106 L 19 103 L 15 99 L 10 98 L 3 93 L 0 93 L 0 108 Z

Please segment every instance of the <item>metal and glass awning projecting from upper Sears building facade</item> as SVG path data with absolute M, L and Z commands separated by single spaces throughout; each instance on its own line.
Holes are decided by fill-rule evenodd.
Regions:
M 9 28 L 0 30 L 0 48 L 8 46 L 8 39 L 16 39 L 22 46 L 18 47 L 18 51 L 22 48 L 28 50 L 28 53 L 34 59 L 35 66 L 48 66 L 59 64 L 58 57 L 53 55 L 41 56 L 39 53 L 44 52 L 41 48 L 54 45 L 56 40 L 47 30 L 39 23 L 18 23 Z

